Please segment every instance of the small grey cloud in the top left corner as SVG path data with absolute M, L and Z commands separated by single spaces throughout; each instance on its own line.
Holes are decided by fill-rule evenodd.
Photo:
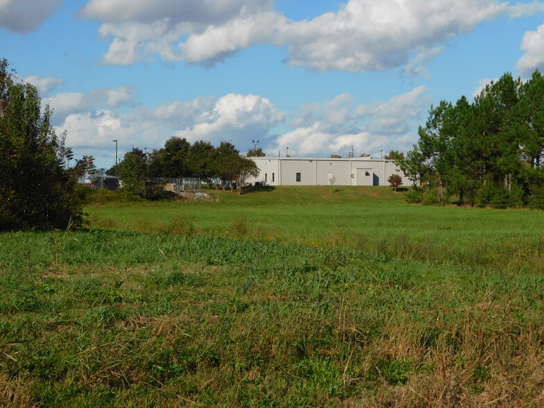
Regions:
M 0 0 L 0 26 L 19 34 L 34 31 L 62 0 Z

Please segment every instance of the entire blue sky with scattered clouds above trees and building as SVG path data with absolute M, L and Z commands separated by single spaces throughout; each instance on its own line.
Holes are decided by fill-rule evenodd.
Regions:
M 172 136 L 379 159 L 441 100 L 544 71 L 544 1 L 0 0 L 0 58 L 99 168 Z

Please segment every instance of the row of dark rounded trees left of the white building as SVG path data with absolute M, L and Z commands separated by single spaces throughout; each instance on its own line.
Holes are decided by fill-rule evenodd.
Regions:
M 200 178 L 210 188 L 228 187 L 241 194 L 246 180 L 259 175 L 259 168 L 253 160 L 242 157 L 230 142 L 214 147 L 203 140 L 191 144 L 173 136 L 163 148 L 151 153 L 133 147 L 106 173 L 119 176 L 126 191 L 150 198 L 154 194 L 145 185 L 148 178 Z

